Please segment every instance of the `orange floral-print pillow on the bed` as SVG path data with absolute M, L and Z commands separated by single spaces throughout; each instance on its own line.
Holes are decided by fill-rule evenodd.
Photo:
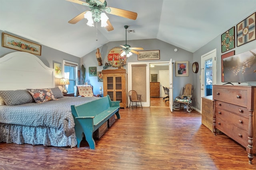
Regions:
M 27 89 L 33 96 L 36 103 L 43 103 L 50 100 L 56 100 L 50 88 L 47 89 Z

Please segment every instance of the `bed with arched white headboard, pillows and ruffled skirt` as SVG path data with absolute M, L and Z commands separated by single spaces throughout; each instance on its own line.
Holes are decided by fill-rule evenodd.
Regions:
M 54 69 L 35 55 L 13 52 L 0 58 L 0 142 L 77 145 L 71 105 L 98 98 L 64 97 L 54 84 Z M 38 100 L 35 90 L 50 95 Z

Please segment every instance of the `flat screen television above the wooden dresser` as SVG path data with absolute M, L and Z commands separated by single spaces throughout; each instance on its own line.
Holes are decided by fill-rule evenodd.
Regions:
M 256 49 L 222 59 L 224 82 L 256 82 Z

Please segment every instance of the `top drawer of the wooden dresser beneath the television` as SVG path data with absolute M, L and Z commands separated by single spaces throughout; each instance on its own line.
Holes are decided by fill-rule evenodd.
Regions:
M 232 89 L 220 88 L 220 86 L 213 86 L 213 92 L 214 100 L 247 107 L 247 88 L 241 87 L 240 89 Z

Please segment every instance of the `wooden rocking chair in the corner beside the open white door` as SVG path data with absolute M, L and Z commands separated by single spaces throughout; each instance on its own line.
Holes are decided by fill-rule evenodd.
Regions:
M 193 94 L 193 87 L 192 84 L 186 84 L 185 87 L 183 87 L 182 90 L 182 96 L 177 96 L 174 100 L 173 109 L 174 110 L 181 110 L 186 106 L 186 109 L 188 112 L 191 112 L 192 106 L 192 94 Z

